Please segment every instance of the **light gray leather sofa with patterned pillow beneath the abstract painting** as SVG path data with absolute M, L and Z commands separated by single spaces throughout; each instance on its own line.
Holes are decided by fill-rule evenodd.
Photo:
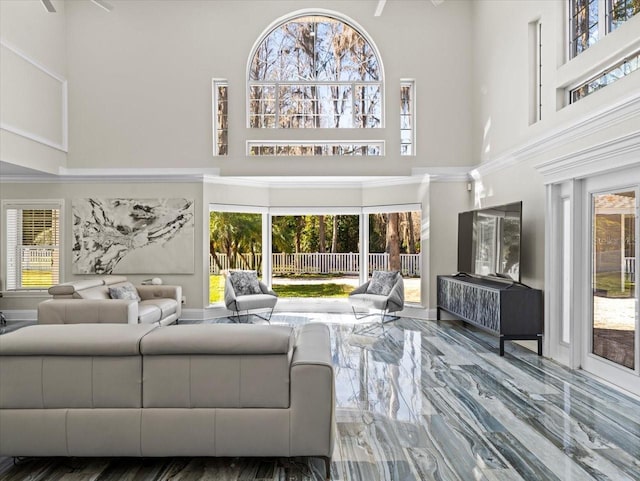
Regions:
M 182 314 L 181 286 L 134 286 L 140 301 L 112 299 L 110 288 L 130 284 L 124 276 L 104 276 L 49 288 L 53 299 L 38 305 L 39 324 L 124 323 L 161 325 Z

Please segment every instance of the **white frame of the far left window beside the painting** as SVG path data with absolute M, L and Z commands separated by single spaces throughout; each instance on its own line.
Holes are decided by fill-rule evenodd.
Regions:
M 2 292 L 6 294 L 12 293 L 41 293 L 46 291 L 46 287 L 24 287 L 22 286 L 22 282 L 16 278 L 15 287 L 10 288 L 7 286 L 7 281 L 9 279 L 9 239 L 7 235 L 8 228 L 8 219 L 7 219 L 7 211 L 9 209 L 17 209 L 17 210 L 58 210 L 58 232 L 59 232 L 59 243 L 57 246 L 58 249 L 58 283 L 64 282 L 65 275 L 65 255 L 63 247 L 65 244 L 65 212 L 64 212 L 64 200 L 63 199 L 5 199 L 0 203 L 0 209 L 2 210 L 2 245 L 1 249 L 1 258 L 4 267 L 2 268 Z M 18 257 L 16 259 L 16 272 L 21 272 L 22 262 Z

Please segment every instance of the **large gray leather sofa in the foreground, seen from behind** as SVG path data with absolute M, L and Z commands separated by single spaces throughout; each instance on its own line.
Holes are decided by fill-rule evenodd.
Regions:
M 333 436 L 322 324 L 36 325 L 0 337 L 0 456 L 317 456 L 328 477 Z

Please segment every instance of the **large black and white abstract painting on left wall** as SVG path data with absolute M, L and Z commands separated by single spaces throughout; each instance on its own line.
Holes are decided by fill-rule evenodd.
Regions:
M 74 199 L 74 274 L 193 274 L 194 202 Z

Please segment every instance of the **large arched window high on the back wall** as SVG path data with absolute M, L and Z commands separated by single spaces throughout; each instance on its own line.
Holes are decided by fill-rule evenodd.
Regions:
M 248 87 L 251 128 L 384 124 L 376 49 L 357 28 L 329 14 L 300 14 L 271 29 L 253 51 Z

